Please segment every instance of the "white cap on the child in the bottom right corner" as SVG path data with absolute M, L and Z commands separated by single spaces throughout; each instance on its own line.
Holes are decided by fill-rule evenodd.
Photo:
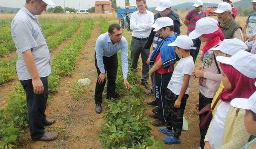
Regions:
M 254 92 L 249 98 L 234 98 L 231 100 L 230 104 L 232 107 L 252 110 L 256 113 L 256 92 Z

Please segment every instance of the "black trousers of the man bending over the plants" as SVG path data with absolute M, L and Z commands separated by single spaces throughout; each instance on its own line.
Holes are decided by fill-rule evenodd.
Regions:
M 99 76 L 100 69 L 98 68 L 98 65 L 97 65 L 96 54 L 94 58 L 95 58 L 95 66 Z M 108 79 L 107 98 L 116 97 L 116 75 L 117 75 L 117 68 L 118 68 L 117 54 L 114 54 L 113 56 L 110 56 L 110 57 L 103 56 L 103 63 L 105 66 L 105 71 Z M 102 93 L 103 93 L 105 84 L 106 84 L 106 79 L 101 84 L 98 83 L 98 80 L 97 80 L 96 86 L 95 86 L 95 95 L 94 95 L 95 104 L 102 103 Z

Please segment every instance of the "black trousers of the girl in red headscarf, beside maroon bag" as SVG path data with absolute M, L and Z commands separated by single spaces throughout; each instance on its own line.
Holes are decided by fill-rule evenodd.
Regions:
M 205 97 L 201 92 L 199 92 L 199 107 L 198 107 L 198 111 L 200 111 L 201 109 L 203 109 L 206 105 L 208 105 L 209 103 L 212 103 L 212 99 L 213 98 L 207 98 Z M 210 121 L 212 119 L 209 120 L 209 125 L 210 125 Z M 201 124 L 202 121 L 202 115 L 199 115 L 199 125 Z M 200 129 L 200 135 L 201 135 L 201 139 L 200 139 L 200 147 L 203 149 L 204 148 L 204 138 L 205 135 L 207 133 L 208 127 L 207 129 Z

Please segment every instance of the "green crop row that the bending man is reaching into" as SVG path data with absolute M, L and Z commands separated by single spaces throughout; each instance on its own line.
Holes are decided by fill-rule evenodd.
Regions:
M 101 22 L 102 32 L 106 32 L 108 25 L 106 20 Z M 123 30 L 123 35 L 128 37 L 131 36 L 131 33 Z M 130 46 L 130 38 L 126 39 Z M 118 56 L 120 56 L 120 52 L 118 52 Z M 136 84 L 139 76 L 136 71 L 129 69 L 128 81 L 132 88 L 130 91 L 124 89 L 121 60 L 118 60 L 116 90 L 124 96 L 118 101 L 104 100 L 108 109 L 104 113 L 104 125 L 99 136 L 102 147 L 108 149 L 162 149 L 162 141 L 156 141 L 154 136 L 150 135 L 152 131 L 150 121 L 143 115 L 143 89 Z M 128 52 L 128 61 L 130 64 L 130 52 Z M 130 110 L 128 102 L 130 102 Z

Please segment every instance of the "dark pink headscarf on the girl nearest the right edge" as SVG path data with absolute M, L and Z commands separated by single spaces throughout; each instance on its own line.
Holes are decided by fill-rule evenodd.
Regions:
M 246 77 L 233 66 L 220 64 L 220 67 L 228 77 L 232 86 L 231 90 L 224 89 L 220 93 L 220 99 L 223 102 L 228 103 L 234 98 L 249 98 L 256 91 L 256 87 L 254 85 L 256 79 Z

